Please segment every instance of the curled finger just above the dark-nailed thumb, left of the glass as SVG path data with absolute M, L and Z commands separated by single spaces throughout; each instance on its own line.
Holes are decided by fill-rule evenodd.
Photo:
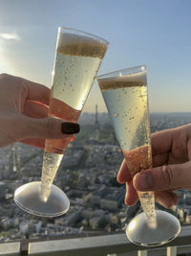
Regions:
M 40 102 L 26 101 L 23 114 L 32 118 L 43 118 L 48 116 L 49 106 Z

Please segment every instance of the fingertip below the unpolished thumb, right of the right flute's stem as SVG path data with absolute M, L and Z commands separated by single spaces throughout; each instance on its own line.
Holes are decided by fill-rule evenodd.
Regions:
M 159 204 L 163 205 L 165 208 L 171 208 L 173 205 L 176 205 L 178 203 L 177 194 L 170 191 L 156 192 L 155 198 L 159 202 Z

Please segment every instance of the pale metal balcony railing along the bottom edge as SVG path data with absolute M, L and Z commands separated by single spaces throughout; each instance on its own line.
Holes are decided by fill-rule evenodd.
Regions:
M 1 256 L 176 256 L 191 253 L 191 226 L 182 226 L 180 235 L 169 244 L 143 247 L 132 244 L 124 233 L 86 238 L 0 244 Z

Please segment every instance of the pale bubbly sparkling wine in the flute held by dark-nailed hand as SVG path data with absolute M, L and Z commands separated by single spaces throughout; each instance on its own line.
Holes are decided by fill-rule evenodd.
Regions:
M 54 62 L 53 87 L 49 115 L 76 122 L 96 78 L 107 50 L 98 38 L 74 34 L 59 34 Z M 63 153 L 70 142 L 47 139 L 43 158 L 42 184 L 53 183 Z

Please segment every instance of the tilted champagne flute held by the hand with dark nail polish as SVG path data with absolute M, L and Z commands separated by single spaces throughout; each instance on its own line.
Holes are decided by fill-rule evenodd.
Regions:
M 96 78 L 108 42 L 96 35 L 58 28 L 49 116 L 76 122 Z M 53 179 L 71 138 L 46 139 L 41 181 L 19 187 L 14 201 L 37 216 L 66 213 L 70 201 Z

